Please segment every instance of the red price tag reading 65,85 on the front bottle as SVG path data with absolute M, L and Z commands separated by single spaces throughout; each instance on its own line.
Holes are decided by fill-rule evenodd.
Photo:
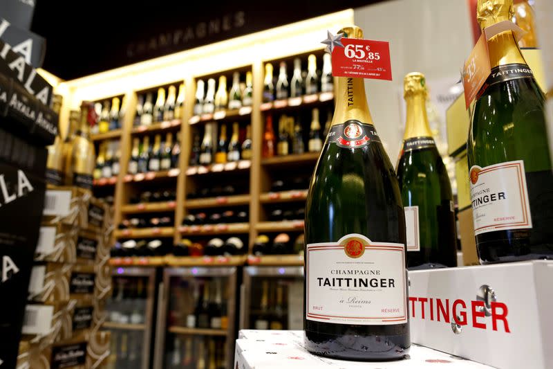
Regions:
M 392 80 L 390 44 L 372 39 L 341 39 L 344 47 L 332 51 L 332 75 L 335 77 Z

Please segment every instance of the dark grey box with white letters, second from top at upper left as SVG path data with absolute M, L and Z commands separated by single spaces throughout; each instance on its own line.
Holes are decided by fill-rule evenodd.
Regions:
M 36 33 L 32 33 L 24 28 L 14 26 L 6 18 L 0 17 L 0 38 L 6 44 L 12 46 L 14 51 L 24 55 L 28 64 L 35 68 L 42 66 L 44 56 L 46 55 L 46 39 L 44 37 L 40 37 Z M 31 47 L 29 48 L 29 46 Z M 25 54 L 20 50 L 24 51 Z

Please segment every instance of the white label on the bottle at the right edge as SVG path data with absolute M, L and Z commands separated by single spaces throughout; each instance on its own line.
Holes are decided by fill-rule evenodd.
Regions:
M 474 233 L 532 228 L 524 161 L 480 168 L 473 165 L 471 183 Z

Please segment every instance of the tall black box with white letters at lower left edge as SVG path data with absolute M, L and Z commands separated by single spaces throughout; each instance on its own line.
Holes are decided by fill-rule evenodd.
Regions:
M 15 368 L 46 182 L 0 163 L 0 360 Z

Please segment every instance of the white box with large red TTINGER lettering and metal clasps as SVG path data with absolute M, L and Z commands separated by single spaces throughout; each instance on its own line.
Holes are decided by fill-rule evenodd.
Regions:
M 498 368 L 553 368 L 553 262 L 410 271 L 409 280 L 414 343 Z

